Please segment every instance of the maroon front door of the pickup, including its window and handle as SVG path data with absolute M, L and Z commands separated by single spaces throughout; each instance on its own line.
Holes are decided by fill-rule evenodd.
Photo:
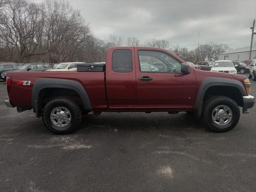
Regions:
M 154 109 L 192 108 L 196 96 L 196 77 L 181 73 L 176 58 L 158 50 L 134 50 L 136 59 L 137 107 Z

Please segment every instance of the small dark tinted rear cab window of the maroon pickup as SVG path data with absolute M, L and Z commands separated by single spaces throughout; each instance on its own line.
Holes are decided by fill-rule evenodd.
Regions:
M 131 72 L 132 51 L 128 49 L 114 50 L 112 55 L 112 70 L 114 72 Z

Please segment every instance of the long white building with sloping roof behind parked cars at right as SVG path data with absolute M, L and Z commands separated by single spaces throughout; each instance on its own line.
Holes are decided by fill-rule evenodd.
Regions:
M 226 53 L 219 54 L 218 60 L 244 61 L 249 60 L 250 47 L 233 49 Z M 251 60 L 256 58 L 256 46 L 252 46 Z

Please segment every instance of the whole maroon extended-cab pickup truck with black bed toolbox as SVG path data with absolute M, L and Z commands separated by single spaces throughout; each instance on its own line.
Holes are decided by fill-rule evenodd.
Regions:
M 196 70 L 167 50 L 109 48 L 105 63 L 78 65 L 77 72 L 8 72 L 8 107 L 33 109 L 56 134 L 76 130 L 94 112 L 181 111 L 206 127 L 226 132 L 254 105 L 248 78 Z M 171 126 L 171 125 L 170 125 Z

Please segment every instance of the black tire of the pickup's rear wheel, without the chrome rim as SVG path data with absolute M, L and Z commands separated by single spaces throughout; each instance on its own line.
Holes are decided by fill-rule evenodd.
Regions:
M 71 114 L 71 122 L 65 127 L 58 127 L 54 125 L 50 119 L 50 114 L 52 109 L 62 106 L 67 108 Z M 68 98 L 55 98 L 50 100 L 42 110 L 42 120 L 45 126 L 55 134 L 70 134 L 74 132 L 79 126 L 82 121 L 82 110 L 80 106 L 73 100 Z

